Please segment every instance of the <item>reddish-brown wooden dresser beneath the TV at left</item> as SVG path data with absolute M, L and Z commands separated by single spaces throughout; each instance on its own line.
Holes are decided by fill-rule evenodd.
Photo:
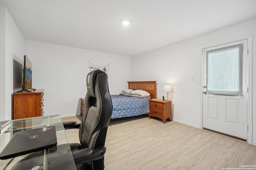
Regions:
M 28 117 L 42 116 L 44 106 L 44 90 L 35 92 L 15 92 L 13 93 L 13 117 L 12 119 L 22 119 Z

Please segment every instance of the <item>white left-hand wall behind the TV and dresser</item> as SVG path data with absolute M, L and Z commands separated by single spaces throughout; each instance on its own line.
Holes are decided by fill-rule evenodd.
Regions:
M 7 8 L 0 6 L 0 119 L 11 119 L 13 93 L 13 59 L 23 61 L 24 38 Z

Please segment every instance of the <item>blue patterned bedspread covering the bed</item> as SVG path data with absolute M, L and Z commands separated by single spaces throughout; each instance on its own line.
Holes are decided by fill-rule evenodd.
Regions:
M 127 97 L 122 95 L 110 96 L 113 105 L 111 119 L 149 113 L 147 98 Z

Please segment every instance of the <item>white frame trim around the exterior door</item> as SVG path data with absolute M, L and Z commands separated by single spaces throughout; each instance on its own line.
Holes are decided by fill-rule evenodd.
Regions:
M 256 145 L 256 143 L 252 143 L 252 35 L 236 39 L 234 41 L 218 44 L 218 45 L 224 45 L 228 43 L 233 43 L 236 41 L 246 40 L 247 39 L 247 48 L 248 48 L 248 55 L 247 55 L 247 125 L 248 125 L 248 131 L 247 131 L 247 143 Z M 218 45 L 212 45 L 210 47 L 215 47 Z M 202 48 L 201 53 L 201 64 L 202 64 L 202 75 L 201 75 L 201 114 L 200 114 L 200 128 L 203 128 L 203 91 L 204 91 L 204 81 L 203 81 L 203 51 L 204 49 L 210 48 L 210 47 L 204 47 Z M 246 49 L 244 49 L 246 50 Z

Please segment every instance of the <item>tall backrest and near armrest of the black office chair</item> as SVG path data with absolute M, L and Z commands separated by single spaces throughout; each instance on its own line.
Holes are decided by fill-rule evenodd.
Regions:
M 87 75 L 86 83 L 80 144 L 70 144 L 70 148 L 78 169 L 85 169 L 89 164 L 93 170 L 103 170 L 106 133 L 113 109 L 107 74 L 94 70 Z

